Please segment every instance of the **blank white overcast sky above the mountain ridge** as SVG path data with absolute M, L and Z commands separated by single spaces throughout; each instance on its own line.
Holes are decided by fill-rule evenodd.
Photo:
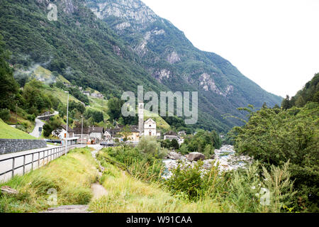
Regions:
M 293 96 L 319 72 L 319 0 L 142 1 L 268 92 Z

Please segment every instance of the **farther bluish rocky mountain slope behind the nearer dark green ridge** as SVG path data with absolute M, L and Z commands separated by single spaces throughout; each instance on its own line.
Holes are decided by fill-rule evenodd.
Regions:
M 198 91 L 204 116 L 225 123 L 219 116 L 235 113 L 239 106 L 274 106 L 282 100 L 223 57 L 195 48 L 182 31 L 140 0 L 86 0 L 86 6 L 130 45 L 158 82 L 172 91 Z

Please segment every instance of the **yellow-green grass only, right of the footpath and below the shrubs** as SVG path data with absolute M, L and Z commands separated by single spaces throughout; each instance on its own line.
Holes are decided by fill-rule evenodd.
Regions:
M 108 194 L 91 201 L 89 209 L 98 213 L 192 213 L 220 212 L 212 199 L 190 202 L 172 196 L 157 183 L 141 182 L 114 165 L 103 162 L 101 183 Z

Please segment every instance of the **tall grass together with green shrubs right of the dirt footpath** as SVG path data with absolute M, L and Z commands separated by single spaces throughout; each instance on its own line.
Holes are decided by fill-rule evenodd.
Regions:
M 130 171 L 119 170 L 103 157 L 121 162 L 123 170 Z M 179 166 L 166 181 L 156 160 L 145 160 L 136 149 L 104 149 L 98 158 L 106 167 L 101 183 L 108 195 L 91 202 L 97 212 L 283 212 L 295 194 L 289 163 L 269 172 L 258 162 L 245 170 L 219 172 L 218 166 L 203 171 L 203 163 L 198 162 L 193 167 Z

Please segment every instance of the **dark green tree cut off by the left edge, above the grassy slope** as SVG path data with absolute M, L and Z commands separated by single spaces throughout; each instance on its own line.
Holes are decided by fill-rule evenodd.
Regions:
M 13 71 L 7 62 L 11 53 L 4 50 L 4 46 L 3 36 L 0 35 L 0 109 L 12 110 L 16 103 L 18 83 L 13 78 Z

